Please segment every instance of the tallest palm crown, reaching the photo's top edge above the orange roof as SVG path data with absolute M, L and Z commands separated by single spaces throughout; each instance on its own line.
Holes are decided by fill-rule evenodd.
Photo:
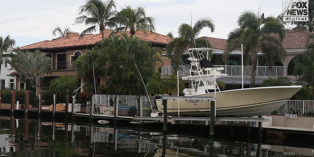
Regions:
M 102 38 L 104 39 L 105 27 L 115 28 L 116 24 L 114 22 L 117 11 L 115 10 L 114 0 L 107 0 L 103 2 L 102 0 L 88 0 L 86 4 L 80 6 L 79 15 L 85 13 L 86 15 L 81 15 L 76 18 L 76 23 L 85 25 L 93 25 L 83 30 L 80 34 L 82 37 L 85 34 L 92 33 L 99 27 L 102 32 Z

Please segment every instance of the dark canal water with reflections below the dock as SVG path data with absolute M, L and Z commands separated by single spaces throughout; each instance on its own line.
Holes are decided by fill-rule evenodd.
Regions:
M 0 157 L 314 157 L 313 145 L 243 141 L 0 116 Z

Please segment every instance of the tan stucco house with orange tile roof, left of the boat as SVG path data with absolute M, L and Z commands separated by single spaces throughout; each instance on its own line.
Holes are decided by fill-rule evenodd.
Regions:
M 105 30 L 105 38 L 107 38 L 112 30 Z M 152 43 L 155 48 L 164 50 L 166 45 L 171 41 L 171 37 L 161 35 L 158 33 L 145 33 L 137 31 L 135 36 L 139 37 L 142 41 Z M 71 62 L 75 61 L 79 55 L 83 55 L 91 50 L 98 42 L 102 40 L 102 34 L 86 34 L 82 38 L 76 32 L 67 32 L 66 37 L 45 40 L 38 43 L 30 44 L 21 47 L 22 51 L 35 51 L 40 50 L 45 52 L 47 56 L 52 59 L 52 74 L 46 74 L 38 89 L 47 87 L 50 80 L 58 76 L 75 76 L 76 69 L 71 66 Z M 100 84 L 105 83 L 105 77 L 97 78 Z M 18 81 L 18 80 L 17 80 Z M 79 78 L 79 82 L 83 84 L 85 80 Z M 17 89 L 20 89 L 20 84 L 17 84 Z M 40 90 L 37 90 L 40 91 Z M 37 93 L 38 94 L 38 93 Z

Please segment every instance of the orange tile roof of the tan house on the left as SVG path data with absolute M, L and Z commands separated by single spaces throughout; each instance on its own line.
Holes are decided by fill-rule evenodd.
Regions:
M 104 36 L 107 38 L 110 32 L 105 32 Z M 128 33 L 130 34 L 130 33 Z M 139 37 L 142 41 L 148 41 L 153 44 L 167 45 L 172 38 L 169 36 L 161 35 L 158 33 L 144 33 L 143 31 L 137 31 L 135 36 Z M 102 40 L 102 34 L 86 34 L 83 38 L 79 38 L 79 35 L 75 35 L 71 38 L 60 38 L 55 40 L 45 40 L 38 43 L 26 45 L 21 47 L 21 50 L 31 49 L 56 49 L 56 48 L 71 48 L 81 46 L 93 46 L 97 42 Z

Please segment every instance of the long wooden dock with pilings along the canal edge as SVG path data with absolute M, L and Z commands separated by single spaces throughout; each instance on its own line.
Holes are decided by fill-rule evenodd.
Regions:
M 15 91 L 12 91 L 11 102 L 16 102 L 15 100 Z M 25 95 L 29 95 L 29 92 L 26 91 Z M 39 96 L 40 97 L 40 96 Z M 69 98 L 69 95 L 67 96 Z M 169 99 L 173 99 L 170 97 Z M 186 99 L 186 98 L 184 98 Z M 202 98 L 203 99 L 203 98 Z M 206 99 L 206 98 L 205 98 Z M 212 98 L 208 98 L 212 99 Z M 117 102 L 117 101 L 115 101 Z M 190 125 L 190 126 L 210 126 L 210 122 L 214 122 L 214 126 L 245 126 L 248 128 L 260 128 L 267 131 L 281 131 L 281 132 L 292 132 L 292 133 L 306 133 L 314 135 L 314 117 L 298 117 L 296 119 L 292 118 L 282 118 L 285 115 L 263 115 L 263 117 L 243 117 L 243 118 L 233 118 L 233 117 L 172 117 L 172 116 L 163 116 L 161 113 L 157 113 L 153 109 L 148 109 L 151 114 L 144 113 L 144 109 L 140 103 L 137 106 L 131 108 L 119 108 L 117 104 L 113 105 L 93 105 L 93 103 L 88 104 L 85 108 L 69 104 L 69 99 L 65 104 L 65 109 L 58 110 L 55 108 L 56 103 L 53 104 L 52 109 L 48 109 L 48 105 L 38 105 L 33 106 L 29 105 L 29 100 L 25 99 L 25 104 L 1 104 L 0 103 L 0 113 L 7 113 L 9 116 L 15 117 L 34 117 L 34 118 L 45 118 L 54 120 L 56 115 L 61 119 L 67 118 L 67 121 L 75 123 L 78 120 L 83 119 L 85 122 L 95 123 L 97 120 L 105 120 L 111 124 L 124 123 L 131 124 L 135 126 L 148 125 L 148 124 L 166 124 L 167 126 L 180 126 L 180 125 Z M 46 109 L 44 109 L 46 108 Z M 73 110 L 72 110 L 73 108 Z M 97 109 L 96 109 L 97 108 Z M 147 109 L 147 108 L 146 108 Z M 124 113 L 124 110 L 128 110 L 127 113 Z M 60 116 L 59 116 L 60 115 Z M 269 125 L 269 116 L 272 116 L 272 124 Z M 278 116 L 275 117 L 274 116 Z M 280 118 L 281 117 L 281 118 Z M 284 125 L 276 124 L 277 119 L 285 120 Z M 293 126 L 292 124 L 302 124 L 296 121 L 309 121 L 307 126 Z M 291 122 L 290 122 L 291 121 Z M 276 122 L 276 123 L 275 123 Z M 283 123 L 283 122 L 280 122 Z M 291 123 L 291 124 L 290 124 Z M 266 124 L 266 125 L 264 125 Z M 213 128 L 213 127 L 209 127 Z M 160 128 L 162 129 L 162 127 Z

